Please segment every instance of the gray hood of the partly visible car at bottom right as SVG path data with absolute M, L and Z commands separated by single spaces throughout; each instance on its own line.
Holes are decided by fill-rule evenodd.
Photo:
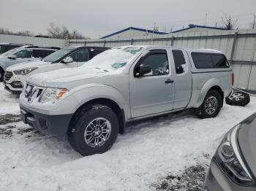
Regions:
M 238 145 L 252 174 L 256 176 L 256 113 L 241 122 L 238 130 Z

